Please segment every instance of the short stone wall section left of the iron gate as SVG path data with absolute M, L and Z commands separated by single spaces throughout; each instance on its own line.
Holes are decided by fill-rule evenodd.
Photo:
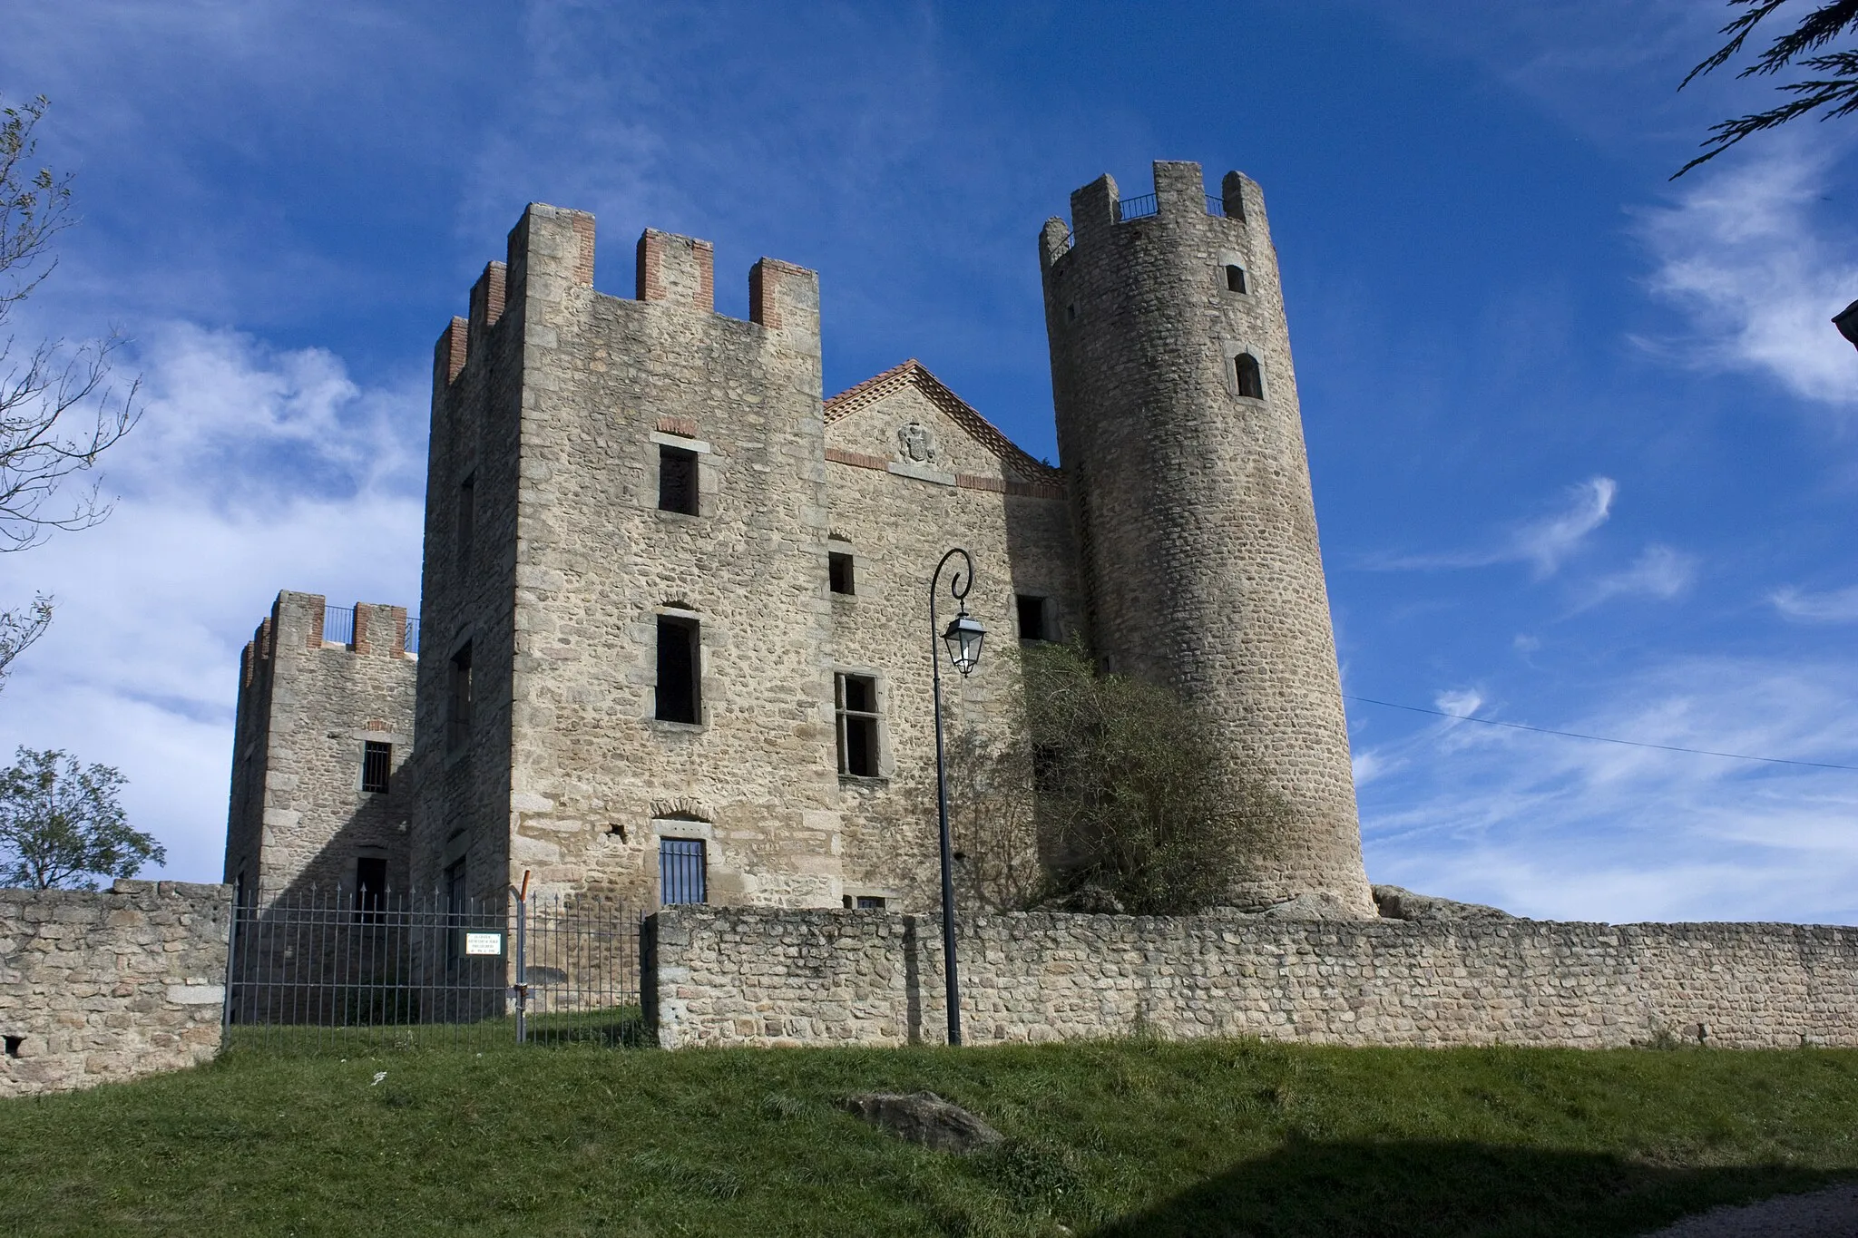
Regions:
M 230 885 L 0 889 L 0 1095 L 173 1071 L 219 1052 Z

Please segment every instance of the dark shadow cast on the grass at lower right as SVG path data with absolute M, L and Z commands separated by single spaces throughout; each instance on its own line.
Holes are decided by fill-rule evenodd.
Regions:
M 1838 1177 L 1786 1166 L 1665 1167 L 1488 1143 L 1293 1140 L 1091 1232 L 1096 1238 L 1642 1234 L 1721 1203 L 1813 1190 Z

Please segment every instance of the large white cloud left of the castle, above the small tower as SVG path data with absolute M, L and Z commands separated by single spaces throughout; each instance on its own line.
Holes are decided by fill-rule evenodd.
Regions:
M 104 458 L 115 514 L 0 562 L 0 600 L 58 600 L 0 692 L 0 755 L 119 767 L 165 872 L 217 880 L 240 650 L 279 588 L 414 601 L 424 410 L 316 349 L 184 323 L 143 334 L 149 414 Z

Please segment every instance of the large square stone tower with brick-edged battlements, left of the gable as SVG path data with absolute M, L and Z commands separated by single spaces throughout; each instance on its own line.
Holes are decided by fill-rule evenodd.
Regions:
M 838 906 L 819 288 L 531 204 L 435 358 L 422 882 Z

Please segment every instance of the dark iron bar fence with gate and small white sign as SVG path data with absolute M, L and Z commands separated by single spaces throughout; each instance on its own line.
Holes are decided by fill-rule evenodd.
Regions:
M 232 915 L 229 1045 L 639 1038 L 639 915 L 598 895 L 290 893 Z

